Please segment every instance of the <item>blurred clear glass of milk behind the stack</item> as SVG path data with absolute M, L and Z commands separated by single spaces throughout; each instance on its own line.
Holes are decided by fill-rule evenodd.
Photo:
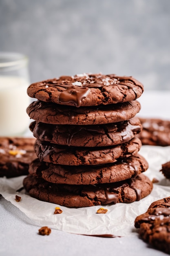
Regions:
M 28 58 L 0 52 L 0 136 L 22 136 L 29 129 Z

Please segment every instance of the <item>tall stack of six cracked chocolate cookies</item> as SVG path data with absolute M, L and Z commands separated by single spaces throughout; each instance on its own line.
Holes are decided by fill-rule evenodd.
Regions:
M 42 201 L 66 207 L 134 202 L 152 191 L 138 154 L 135 115 L 143 85 L 133 77 L 80 74 L 33 83 L 38 99 L 27 113 L 37 159 L 24 187 Z

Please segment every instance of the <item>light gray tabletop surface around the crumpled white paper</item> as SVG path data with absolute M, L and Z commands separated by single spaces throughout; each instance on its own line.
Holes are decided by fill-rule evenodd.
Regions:
M 140 116 L 170 119 L 169 92 L 146 92 L 139 101 L 142 106 Z M 40 236 L 39 228 L 11 202 L 0 196 L 0 256 L 167 255 L 150 247 L 138 235 L 100 238 L 52 229 L 49 236 Z

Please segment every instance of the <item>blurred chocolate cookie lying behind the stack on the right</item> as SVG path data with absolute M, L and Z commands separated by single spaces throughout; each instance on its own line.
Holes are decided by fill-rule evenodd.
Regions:
M 170 121 L 139 118 L 143 127 L 138 135 L 143 145 L 170 146 Z

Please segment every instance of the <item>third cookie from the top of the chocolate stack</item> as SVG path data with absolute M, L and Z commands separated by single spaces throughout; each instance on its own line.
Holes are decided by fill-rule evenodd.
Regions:
M 141 124 L 137 117 L 119 123 L 89 126 L 55 125 L 34 121 L 30 124 L 30 130 L 34 137 L 41 141 L 67 146 L 101 147 L 129 141 L 141 132 Z

